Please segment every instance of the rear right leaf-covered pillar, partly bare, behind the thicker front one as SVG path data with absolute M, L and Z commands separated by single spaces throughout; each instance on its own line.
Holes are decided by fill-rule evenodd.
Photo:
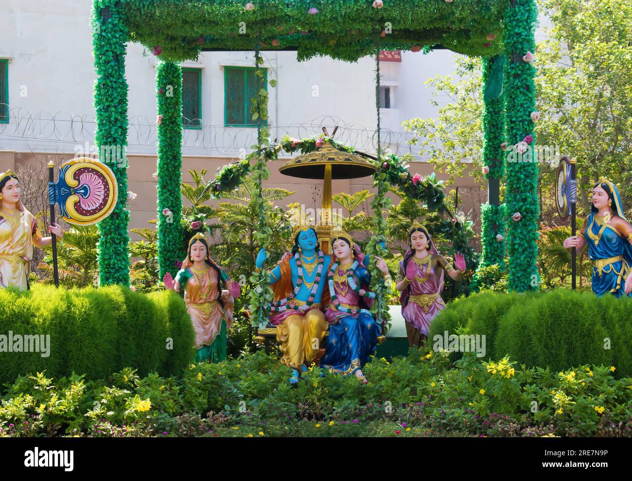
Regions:
M 483 59 L 483 165 L 489 169 L 487 179 L 487 203 L 481 206 L 482 256 L 480 267 L 502 265 L 506 253 L 505 210 L 500 201 L 501 179 L 505 174 L 502 143 L 505 138 L 504 98 L 502 74 L 504 59 L 494 56 Z M 501 237 L 499 237 L 499 234 Z

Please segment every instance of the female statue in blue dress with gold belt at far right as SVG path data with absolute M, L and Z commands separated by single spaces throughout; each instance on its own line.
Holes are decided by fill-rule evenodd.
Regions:
M 632 226 L 626 220 L 619 190 L 601 179 L 593 187 L 592 212 L 581 234 L 564 240 L 564 247 L 583 249 L 593 263 L 592 290 L 598 296 L 632 296 Z

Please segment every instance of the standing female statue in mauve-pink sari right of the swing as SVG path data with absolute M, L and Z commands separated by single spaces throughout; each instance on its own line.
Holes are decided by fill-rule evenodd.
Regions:
M 445 309 L 441 299 L 444 271 L 454 280 L 465 272 L 465 258 L 454 254 L 453 266 L 435 249 L 428 230 L 418 222 L 408 230 L 408 250 L 399 263 L 396 279 L 401 291 L 401 314 L 406 321 L 410 347 L 420 347 L 428 336 L 430 321 Z

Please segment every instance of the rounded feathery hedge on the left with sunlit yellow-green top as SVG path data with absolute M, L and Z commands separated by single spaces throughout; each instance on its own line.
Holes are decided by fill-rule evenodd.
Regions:
M 44 336 L 44 343 L 37 352 L 23 352 L 26 336 L 35 335 Z M 88 379 L 124 367 L 142 376 L 178 374 L 193 361 L 194 343 L 185 303 L 174 292 L 145 295 L 121 286 L 66 290 L 39 284 L 27 292 L 0 289 L 0 383 L 44 370 L 49 377 L 85 372 Z

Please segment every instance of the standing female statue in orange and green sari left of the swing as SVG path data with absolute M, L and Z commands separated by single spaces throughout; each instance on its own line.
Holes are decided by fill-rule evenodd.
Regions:
M 195 330 L 197 362 L 226 359 L 226 336 L 233 324 L 234 298 L 240 296 L 241 288 L 210 259 L 204 235 L 191 237 L 176 280 L 167 273 L 164 286 L 176 292 L 185 287 L 186 309 Z

